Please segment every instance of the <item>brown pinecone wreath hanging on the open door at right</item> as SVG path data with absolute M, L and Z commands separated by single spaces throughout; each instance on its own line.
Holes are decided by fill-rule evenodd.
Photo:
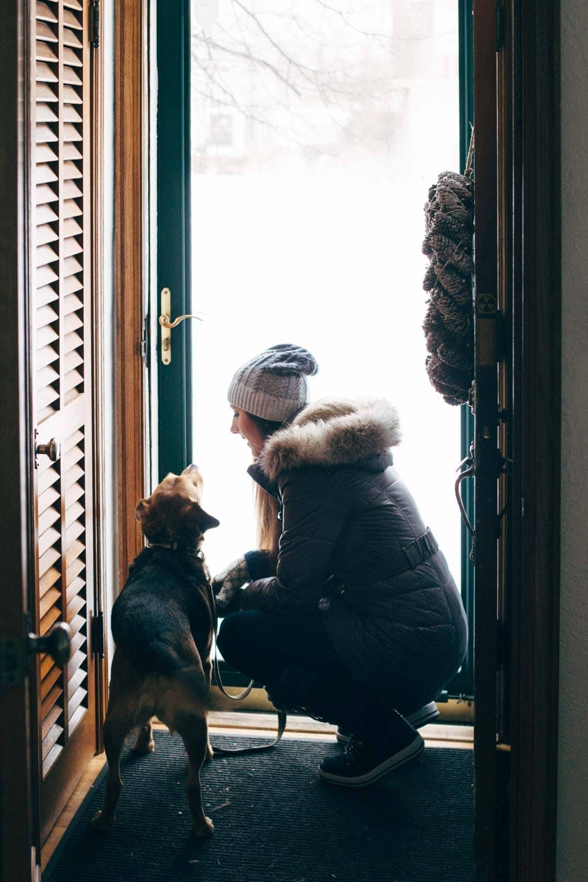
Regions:
M 429 295 L 422 328 L 431 384 L 448 404 L 465 404 L 473 382 L 473 182 L 472 146 L 465 175 L 444 171 L 425 205 L 430 258 L 423 288 Z

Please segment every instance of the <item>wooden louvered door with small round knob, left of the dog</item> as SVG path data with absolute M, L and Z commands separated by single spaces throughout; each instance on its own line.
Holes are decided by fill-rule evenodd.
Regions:
M 90 382 L 90 64 L 87 7 L 36 4 L 37 631 L 65 620 L 71 658 L 38 666 L 41 828 L 46 833 L 95 749 L 92 386 Z

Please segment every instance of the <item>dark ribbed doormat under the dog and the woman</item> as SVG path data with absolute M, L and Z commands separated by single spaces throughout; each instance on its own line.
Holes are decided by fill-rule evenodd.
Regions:
M 155 751 L 127 744 L 116 824 L 97 833 L 106 766 L 51 857 L 43 882 L 472 882 L 472 751 L 426 748 L 372 787 L 327 784 L 316 766 L 334 742 L 286 738 L 267 753 L 202 770 L 212 838 L 194 840 L 179 736 Z M 257 738 L 213 736 L 220 746 Z

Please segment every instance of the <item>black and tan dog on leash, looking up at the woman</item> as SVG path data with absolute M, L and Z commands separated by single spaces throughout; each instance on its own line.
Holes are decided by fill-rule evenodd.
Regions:
M 219 521 L 203 511 L 202 476 L 196 466 L 169 474 L 135 517 L 150 547 L 130 566 L 112 609 L 116 649 L 104 721 L 108 782 L 102 810 L 93 826 L 115 823 L 123 789 L 120 759 L 131 729 L 139 728 L 134 750 L 153 751 L 151 718 L 179 732 L 189 759 L 188 804 L 197 837 L 210 836 L 205 817 L 200 769 L 212 759 L 206 710 L 211 687 L 212 609 L 210 576 L 200 546 L 205 531 Z

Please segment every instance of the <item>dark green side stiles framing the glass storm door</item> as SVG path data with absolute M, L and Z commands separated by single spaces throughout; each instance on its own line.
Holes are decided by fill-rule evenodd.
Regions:
M 473 123 L 473 0 L 459 0 L 459 154 L 461 168 Z M 171 291 L 172 318 L 190 313 L 190 0 L 157 0 L 157 227 L 158 298 Z M 160 314 L 160 301 L 152 304 Z M 182 322 L 172 331 L 172 361 L 164 365 L 156 347 L 158 370 L 159 480 L 182 471 L 192 456 L 191 327 Z M 461 411 L 461 458 L 469 454 L 473 415 Z M 457 465 L 457 463 L 456 463 Z M 462 485 L 465 509 L 473 522 L 473 487 Z M 461 587 L 470 623 L 464 664 L 448 684 L 449 698 L 473 698 L 473 565 L 472 542 L 461 527 Z M 242 677 L 227 678 L 240 684 Z

